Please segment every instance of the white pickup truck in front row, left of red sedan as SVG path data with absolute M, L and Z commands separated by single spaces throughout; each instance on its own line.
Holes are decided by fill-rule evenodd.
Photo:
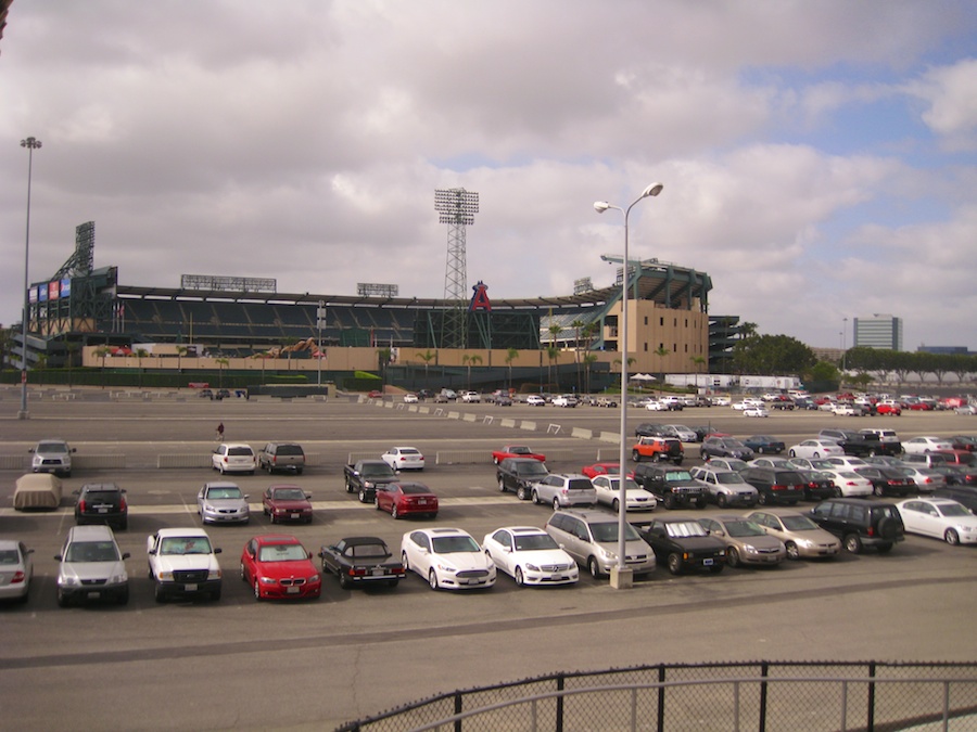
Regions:
M 220 600 L 219 553 L 200 528 L 163 528 L 147 537 L 145 554 L 156 602 L 193 594 Z

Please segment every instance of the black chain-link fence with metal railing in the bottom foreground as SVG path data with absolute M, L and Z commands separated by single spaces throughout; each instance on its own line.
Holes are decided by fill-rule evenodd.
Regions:
M 756 662 L 556 673 L 442 694 L 339 732 L 977 730 L 977 664 Z

